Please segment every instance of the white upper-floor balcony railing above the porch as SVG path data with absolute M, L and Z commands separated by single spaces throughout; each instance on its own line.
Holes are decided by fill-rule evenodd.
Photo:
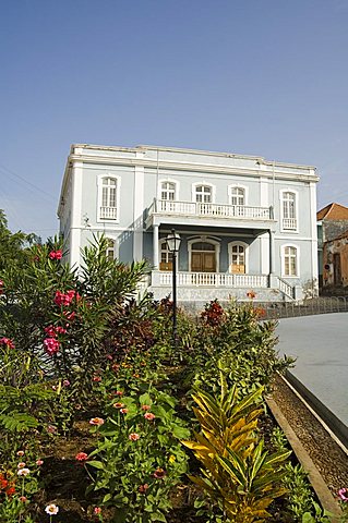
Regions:
M 154 199 L 148 215 L 181 215 L 212 218 L 241 218 L 247 220 L 271 220 L 271 207 L 251 207 L 247 205 L 207 204 L 202 202 L 177 202 Z

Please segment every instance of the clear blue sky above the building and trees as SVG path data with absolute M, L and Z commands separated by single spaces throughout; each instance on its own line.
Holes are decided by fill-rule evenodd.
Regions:
M 0 208 L 58 230 L 72 143 L 317 167 L 348 206 L 348 0 L 2 0 Z

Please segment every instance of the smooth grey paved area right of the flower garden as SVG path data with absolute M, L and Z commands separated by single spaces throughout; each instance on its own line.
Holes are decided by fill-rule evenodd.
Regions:
M 348 313 L 284 318 L 277 335 L 291 373 L 348 426 Z

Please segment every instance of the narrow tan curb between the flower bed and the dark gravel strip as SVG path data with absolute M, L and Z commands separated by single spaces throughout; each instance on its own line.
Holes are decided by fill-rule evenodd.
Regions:
M 317 499 L 320 500 L 321 506 L 323 509 L 327 510 L 328 512 L 332 512 L 335 514 L 337 518 L 333 518 L 332 522 L 333 523 L 338 523 L 339 516 L 341 515 L 340 508 L 338 506 L 338 502 L 335 500 L 334 496 L 327 488 L 324 479 L 322 478 L 319 470 L 314 465 L 312 459 L 310 458 L 309 453 L 307 450 L 303 448 L 301 441 L 290 427 L 287 418 L 280 411 L 279 406 L 277 403 L 273 400 L 273 398 L 267 398 L 266 403 L 274 415 L 276 422 L 278 423 L 279 427 L 286 435 L 290 447 L 292 448 L 297 459 L 305 470 L 305 472 L 309 475 L 309 479 L 311 482 L 311 485 L 317 496 Z

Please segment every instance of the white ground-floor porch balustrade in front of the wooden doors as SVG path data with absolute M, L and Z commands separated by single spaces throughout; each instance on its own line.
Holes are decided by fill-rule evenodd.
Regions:
M 221 287 L 248 289 L 266 289 L 268 277 L 266 275 L 228 275 L 223 272 L 178 272 L 177 284 L 180 287 Z M 154 270 L 152 285 L 172 285 L 172 273 Z

